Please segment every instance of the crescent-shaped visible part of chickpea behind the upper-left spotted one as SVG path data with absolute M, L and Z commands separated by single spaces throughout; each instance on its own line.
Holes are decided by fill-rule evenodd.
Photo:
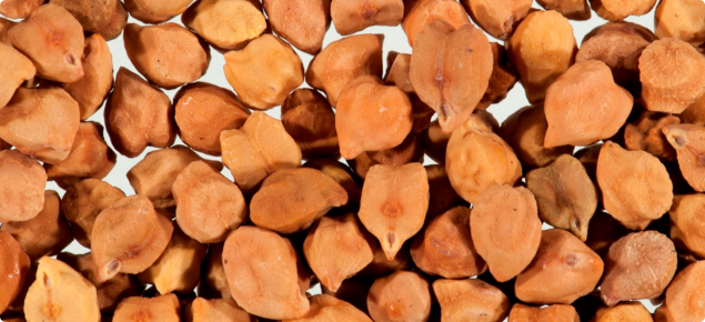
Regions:
M 64 83 L 63 89 L 79 103 L 83 121 L 100 109 L 112 89 L 112 54 L 102 36 L 85 38 L 81 63 L 83 78 Z

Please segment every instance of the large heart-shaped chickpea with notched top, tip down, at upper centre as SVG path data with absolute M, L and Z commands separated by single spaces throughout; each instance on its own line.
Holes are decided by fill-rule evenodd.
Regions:
M 419 33 L 409 80 L 450 133 L 470 118 L 487 90 L 492 70 L 492 48 L 480 29 L 470 23 L 454 29 L 439 21 Z

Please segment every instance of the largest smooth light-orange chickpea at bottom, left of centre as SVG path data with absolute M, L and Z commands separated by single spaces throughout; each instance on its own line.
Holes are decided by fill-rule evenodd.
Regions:
M 230 292 L 245 311 L 272 320 L 303 318 L 310 309 L 299 285 L 291 242 L 274 232 L 241 227 L 225 240 L 223 266 Z

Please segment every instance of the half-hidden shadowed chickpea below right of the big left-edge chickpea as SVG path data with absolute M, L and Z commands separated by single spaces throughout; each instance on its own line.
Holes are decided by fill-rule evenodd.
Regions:
M 103 127 L 95 122 L 81 122 L 69 157 L 56 164 L 44 164 L 44 168 L 48 179 L 66 189 L 83 179 L 105 178 L 115 162 L 115 152 L 103 139 Z

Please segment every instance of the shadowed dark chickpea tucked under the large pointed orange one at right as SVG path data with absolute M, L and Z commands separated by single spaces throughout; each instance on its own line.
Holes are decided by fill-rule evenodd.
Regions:
M 566 107 L 564 107 L 566 108 Z M 577 123 L 572 123 L 576 127 Z M 511 114 L 500 128 L 498 134 L 508 143 L 524 169 L 543 168 L 563 154 L 571 154 L 573 145 L 544 147 L 548 130 L 543 103 L 525 107 Z

